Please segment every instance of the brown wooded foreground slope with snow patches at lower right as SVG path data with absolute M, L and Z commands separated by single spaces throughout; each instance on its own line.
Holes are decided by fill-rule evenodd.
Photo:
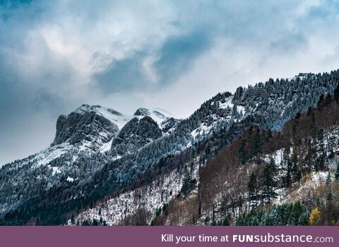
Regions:
M 323 212 L 321 224 L 336 224 L 333 220 L 339 217 L 336 190 L 339 183 L 335 182 L 334 174 L 339 162 L 338 97 L 339 88 L 333 96 L 321 97 L 307 114 L 299 114 L 285 123 L 280 131 L 258 128 L 245 131 L 206 166 L 200 160 L 210 151 L 203 150 L 178 170 L 105 200 L 81 212 L 73 222 L 309 224 L 311 210 L 320 208 Z M 270 171 L 270 179 L 266 171 Z M 271 183 L 267 184 L 269 180 Z M 330 192 L 331 208 L 328 207 Z M 277 204 L 280 206 L 275 207 Z M 256 211 L 251 211 L 256 208 L 263 210 L 262 214 L 267 210 L 267 215 L 263 218 L 261 213 L 256 215 Z M 290 208 L 298 208 L 303 218 L 287 217 L 279 221 L 279 210 L 288 212 Z M 292 210 L 291 214 L 294 213 Z M 302 222 L 293 223 L 294 220 Z

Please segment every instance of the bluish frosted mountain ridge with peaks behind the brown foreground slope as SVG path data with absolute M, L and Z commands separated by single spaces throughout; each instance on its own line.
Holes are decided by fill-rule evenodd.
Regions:
M 257 83 L 248 88 L 239 87 L 234 95 L 230 92 L 215 95 L 201 104 L 187 119 L 167 117 L 162 121 L 163 124 L 149 116 L 157 114 L 156 111 L 138 109 L 137 116 L 132 116 L 124 125 L 130 126 L 124 131 L 126 135 L 119 136 L 115 142 L 114 138 L 118 137 L 124 126 L 119 128 L 103 117 L 100 111 L 105 109 L 107 112 L 106 108 L 84 104 L 70 119 L 68 118 L 71 114 L 61 116 L 57 142 L 51 148 L 68 145 L 65 143 L 69 142 L 70 145 L 81 142 L 83 145 L 53 157 L 52 160 L 41 162 L 40 165 L 34 160 L 23 159 L 25 164 L 18 161 L 0 170 L 0 178 L 6 181 L 0 186 L 1 212 L 3 215 L 10 212 L 7 215 L 11 215 L 22 208 L 20 205 L 30 205 L 27 210 L 20 211 L 28 216 L 39 215 L 44 212 L 43 208 L 47 210 L 49 207 L 65 207 L 69 209 L 64 209 L 63 217 L 54 215 L 55 219 L 49 219 L 53 216 L 51 215 L 48 220 L 42 219 L 44 224 L 65 224 L 61 222 L 67 218 L 66 215 L 74 212 L 72 208 L 83 209 L 96 204 L 102 198 L 117 197 L 124 191 L 135 191 L 138 186 L 152 182 L 158 175 L 175 173 L 177 169 L 178 174 L 173 176 L 177 177 L 177 183 L 184 184 L 182 172 L 186 173 L 185 169 L 188 168 L 183 167 L 191 163 L 191 173 L 194 171 L 198 176 L 199 167 L 206 166 L 222 147 L 230 145 L 249 128 L 279 130 L 297 114 L 305 114 L 310 107 L 316 107 L 321 95 L 333 95 L 338 86 L 338 74 L 338 71 L 332 71 L 295 77 L 293 80 L 270 79 L 266 83 Z M 84 112 L 84 109 L 89 109 L 89 112 Z M 109 114 L 121 117 L 119 112 L 114 112 Z M 159 116 L 161 115 L 157 115 L 157 120 Z M 145 123 L 142 127 L 141 122 Z M 143 135 L 144 133 L 148 134 Z M 95 141 L 93 145 L 89 145 L 92 136 Z M 109 147 L 111 140 L 112 145 Z M 102 148 L 102 143 L 105 143 L 105 148 Z M 89 151 L 91 149 L 93 152 Z M 210 151 L 197 155 L 202 150 Z M 17 167 L 17 171 L 11 171 L 13 167 Z M 33 176 L 34 179 L 26 185 L 11 184 L 11 181 L 5 180 L 8 173 L 13 173 L 11 177 L 18 180 L 23 176 Z M 194 179 L 197 178 L 193 176 L 191 180 L 187 180 L 192 181 L 191 186 L 194 186 Z M 28 192 L 23 193 L 20 186 Z M 18 192 L 11 193 L 11 190 Z M 38 195 L 37 198 L 44 195 L 45 202 L 41 204 L 32 198 L 33 191 Z M 178 192 L 177 189 L 175 193 L 186 192 Z M 175 193 L 172 191 L 167 196 L 172 197 Z M 55 200 L 59 201 L 58 205 L 52 204 Z M 16 203 L 10 203 L 11 201 Z M 42 208 L 41 212 L 37 205 Z M 22 219 L 17 224 L 25 224 L 24 222 L 25 219 Z

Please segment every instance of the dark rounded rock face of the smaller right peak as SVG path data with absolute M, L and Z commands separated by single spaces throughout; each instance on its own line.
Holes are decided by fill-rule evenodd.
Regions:
M 124 128 L 112 141 L 112 150 L 117 155 L 124 155 L 126 152 L 133 153 L 144 145 L 160 138 L 162 131 L 157 123 L 150 116 L 134 117 L 126 123 Z

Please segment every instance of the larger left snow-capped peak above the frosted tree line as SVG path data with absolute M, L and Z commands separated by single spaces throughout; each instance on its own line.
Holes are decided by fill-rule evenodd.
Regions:
M 83 104 L 68 115 L 57 119 L 57 133 L 53 143 L 39 152 L 31 162 L 47 164 L 66 152 L 89 155 L 98 150 L 107 150 L 114 136 L 131 120 L 120 112 L 99 105 Z

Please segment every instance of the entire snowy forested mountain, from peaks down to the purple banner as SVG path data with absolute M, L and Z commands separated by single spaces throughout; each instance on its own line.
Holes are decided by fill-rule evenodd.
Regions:
M 0 169 L 1 223 L 249 224 L 249 212 L 279 203 L 305 219 L 325 212 L 297 200 L 334 172 L 338 82 L 339 71 L 270 79 L 187 119 L 83 104 L 59 116 L 50 147 Z

